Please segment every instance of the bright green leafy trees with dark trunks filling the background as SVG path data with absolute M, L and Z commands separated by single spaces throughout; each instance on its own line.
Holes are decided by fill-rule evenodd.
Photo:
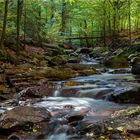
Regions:
M 1 40 L 17 34 L 38 42 L 87 37 L 82 44 L 92 46 L 122 31 L 131 39 L 140 28 L 139 7 L 140 0 L 5 0 L 0 2 Z

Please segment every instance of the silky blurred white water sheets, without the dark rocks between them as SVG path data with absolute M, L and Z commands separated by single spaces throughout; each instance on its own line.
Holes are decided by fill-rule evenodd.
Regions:
M 82 61 L 85 64 L 85 61 Z M 98 66 L 98 62 L 86 63 Z M 98 66 L 99 67 L 99 66 Z M 101 69 L 100 69 L 101 70 Z M 113 74 L 114 71 L 117 71 Z M 125 71 L 125 72 L 124 72 Z M 112 70 L 107 72 L 72 78 L 66 81 L 56 82 L 54 97 L 43 98 L 34 106 L 45 107 L 57 119 L 63 120 L 71 114 L 84 114 L 83 121 L 98 121 L 110 116 L 114 111 L 125 109 L 132 104 L 117 104 L 95 98 L 95 95 L 118 93 L 139 87 L 139 77 L 128 73 L 130 69 Z M 98 97 L 98 96 L 97 96 Z M 61 114 L 61 115 L 60 115 Z M 62 126 L 59 126 L 62 127 Z M 68 140 L 70 135 L 66 132 L 56 133 L 55 131 L 47 137 L 49 140 Z

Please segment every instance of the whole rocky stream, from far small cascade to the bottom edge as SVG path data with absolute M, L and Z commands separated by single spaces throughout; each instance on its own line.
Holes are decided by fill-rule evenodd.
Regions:
M 139 87 L 140 79 L 130 73 L 130 68 L 103 68 L 95 60 L 82 61 L 81 65 L 94 65 L 100 74 L 55 81 L 52 96 L 44 96 L 35 101 L 19 101 L 20 106 L 24 102 L 24 105 L 44 107 L 51 112 L 52 118 L 48 124 L 51 131 L 49 130 L 49 133 L 47 132 L 47 135 L 44 134 L 41 138 L 48 140 L 81 139 L 79 133 L 81 134 L 80 130 L 83 125 L 103 120 L 115 111 L 134 106 L 110 102 L 105 96 Z M 10 109 L 11 107 L 7 107 L 7 110 Z M 4 108 L 1 108 L 1 112 L 3 110 Z M 40 131 L 44 133 L 44 128 Z

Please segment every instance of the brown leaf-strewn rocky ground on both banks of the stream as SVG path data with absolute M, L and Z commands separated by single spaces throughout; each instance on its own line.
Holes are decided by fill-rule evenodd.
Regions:
M 139 38 L 137 37 L 137 39 Z M 108 100 L 113 102 L 127 104 L 135 103 L 135 105 L 133 104 L 133 107 L 128 109 L 121 109 L 118 111 L 112 110 L 109 112 L 105 111 L 101 116 L 94 112 L 94 117 L 101 117 L 101 120 L 99 121 L 82 121 L 87 112 L 90 112 L 86 109 L 82 109 L 82 111 L 80 110 L 78 112 L 74 111 L 69 114 L 69 111 L 73 108 L 71 105 L 66 105 L 66 110 L 63 110 L 63 112 L 59 111 L 59 114 L 55 114 L 55 111 L 49 112 L 43 108 L 39 109 L 37 107 L 35 109 L 32 107 L 26 107 L 29 103 L 34 104 L 39 102 L 40 98 L 44 98 L 44 96 L 54 96 L 53 94 L 56 90 L 54 89 L 54 86 L 55 83 L 59 83 L 59 81 L 65 81 L 63 82 L 64 86 L 78 86 L 81 85 L 80 82 L 74 82 L 71 80 L 66 82 L 66 80 L 79 76 L 102 76 L 102 73 L 109 71 L 110 68 L 112 69 L 112 67 L 116 65 L 117 68 L 113 68 L 114 73 L 117 73 L 117 71 L 128 73 L 130 69 L 128 60 L 132 60 L 134 57 L 140 58 L 140 45 L 137 42 L 132 44 L 131 47 L 113 49 L 113 52 L 101 47 L 71 49 L 65 45 L 58 46 L 57 44 L 52 45 L 44 43 L 43 47 L 35 47 L 33 45 L 26 44 L 18 59 L 16 52 L 12 47 L 1 50 L 0 131 L 3 132 L 3 134 L 0 133 L 1 139 L 7 138 L 7 136 L 9 139 L 17 137 L 20 138 L 22 136 L 24 139 L 30 138 L 31 136 L 36 139 L 46 138 L 46 135 L 49 133 L 48 131 L 54 131 L 54 128 L 51 127 L 54 127 L 54 125 L 58 123 L 58 120 L 55 121 L 54 118 L 57 118 L 58 116 L 61 118 L 61 116 L 63 116 L 62 118 L 64 119 L 66 116 L 66 120 L 64 119 L 62 122 L 63 124 L 69 124 L 66 129 L 68 130 L 67 133 L 70 133 L 68 135 L 72 135 L 72 137 L 70 137 L 72 140 L 139 140 L 140 107 L 137 105 L 140 103 L 139 76 L 132 79 L 133 76 L 131 75 L 131 78 L 129 77 L 127 81 L 127 84 L 130 85 L 125 87 L 126 89 L 128 88 L 128 90 L 123 90 L 119 95 L 118 91 L 114 92 L 113 98 L 112 94 L 110 95 L 110 93 L 112 93 L 112 89 L 109 89 L 109 91 L 108 89 L 105 89 L 104 92 L 98 92 L 96 96 L 94 95 L 93 98 L 95 99 L 105 99 L 105 97 L 108 97 Z M 122 45 L 124 44 L 122 43 Z M 81 60 L 92 62 L 92 59 L 90 59 L 90 57 L 88 58 L 88 56 L 84 54 L 85 52 L 86 54 L 90 54 L 90 57 L 98 58 L 96 61 L 99 61 L 100 65 L 102 64 L 106 67 L 97 68 L 96 65 L 81 64 Z M 129 57 L 130 55 L 132 57 Z M 125 83 L 125 78 L 121 80 L 119 79 L 120 81 L 118 81 L 120 83 Z M 103 81 L 99 81 L 98 79 L 96 82 L 99 85 L 103 84 Z M 133 86 L 132 83 L 135 83 L 135 85 Z M 103 85 L 105 85 L 105 83 Z M 129 87 L 131 86 L 133 89 L 129 90 Z M 69 93 L 70 90 L 66 90 L 65 92 L 67 93 L 67 96 L 70 97 L 70 94 L 75 91 L 71 91 L 71 93 Z M 66 94 L 65 92 L 62 94 Z M 133 96 L 131 96 L 132 94 Z M 67 109 L 69 111 L 67 111 Z M 39 114 L 38 110 L 40 111 Z M 29 112 L 31 112 L 31 114 Z M 89 114 L 91 115 L 92 113 Z M 70 116 L 67 116 L 67 114 Z M 34 117 L 32 118 L 31 116 Z M 50 120 L 52 116 L 54 120 L 50 127 L 48 120 Z M 59 122 L 57 125 L 60 125 L 61 123 Z M 46 128 L 47 126 L 48 128 Z M 47 132 L 42 131 L 42 129 L 45 129 Z M 63 129 L 65 129 L 65 127 Z

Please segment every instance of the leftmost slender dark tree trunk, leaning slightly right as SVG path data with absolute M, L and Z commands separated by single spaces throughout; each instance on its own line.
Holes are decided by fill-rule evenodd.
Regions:
M 5 32 L 6 32 L 7 14 L 8 14 L 8 3 L 9 3 L 9 0 L 5 0 L 3 29 L 2 29 L 1 39 L 0 39 L 0 48 L 2 48 L 2 49 L 3 49 L 3 42 L 4 42 L 4 39 L 5 39 Z

